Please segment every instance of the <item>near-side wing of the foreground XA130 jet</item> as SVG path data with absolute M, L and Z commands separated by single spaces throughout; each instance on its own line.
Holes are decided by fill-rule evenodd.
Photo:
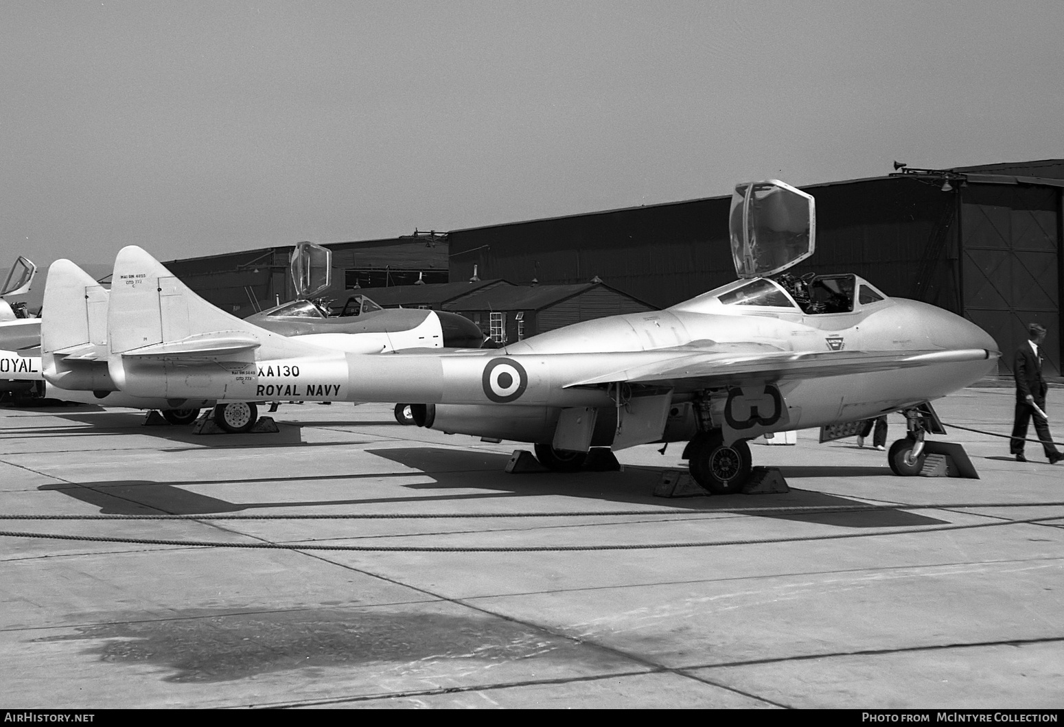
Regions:
M 677 389 L 709 389 L 747 381 L 780 382 L 812 377 L 915 368 L 999 356 L 983 348 L 931 351 L 794 351 L 679 353 L 642 365 L 573 381 L 565 389 L 624 381 Z

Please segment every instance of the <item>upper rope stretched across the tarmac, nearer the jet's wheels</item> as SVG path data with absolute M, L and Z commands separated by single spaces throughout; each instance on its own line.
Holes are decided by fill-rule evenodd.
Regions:
M 213 514 L 198 515 L 19 515 L 0 514 L 0 521 L 367 521 L 367 519 L 478 519 L 485 517 L 611 517 L 632 515 L 766 515 L 831 514 L 876 512 L 882 510 L 959 510 L 968 508 L 1059 508 L 1064 500 L 1049 502 L 946 502 L 928 505 L 795 505 L 753 508 L 714 508 L 712 510 L 577 510 L 572 512 L 436 512 L 436 513 L 344 513 L 304 515 Z

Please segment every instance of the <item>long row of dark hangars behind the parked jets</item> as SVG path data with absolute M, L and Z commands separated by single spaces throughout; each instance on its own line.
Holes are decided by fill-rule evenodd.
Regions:
M 817 253 L 796 272 L 857 272 L 888 295 L 960 313 L 997 340 L 1007 354 L 1002 375 L 1010 373 L 1011 352 L 1026 340 L 1026 325 L 1038 321 L 1050 331 L 1045 371 L 1061 376 L 1064 160 L 902 168 L 804 188 L 817 203 Z M 323 297 L 478 275 L 545 288 L 597 277 L 633 300 L 664 308 L 734 278 L 729 204 L 729 197 L 710 197 L 332 243 L 327 247 L 333 250 L 333 285 Z M 211 302 L 243 316 L 293 297 L 287 267 L 293 247 L 167 266 Z M 508 310 L 516 316 L 517 309 Z M 513 323 L 511 317 L 508 329 Z M 525 334 L 531 335 L 528 329 Z M 510 340 L 516 335 L 508 330 Z

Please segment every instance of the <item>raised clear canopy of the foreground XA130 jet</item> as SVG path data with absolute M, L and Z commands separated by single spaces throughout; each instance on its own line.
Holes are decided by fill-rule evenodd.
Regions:
M 736 275 L 776 275 L 813 254 L 813 197 L 775 179 L 739 184 L 732 194 L 729 228 Z

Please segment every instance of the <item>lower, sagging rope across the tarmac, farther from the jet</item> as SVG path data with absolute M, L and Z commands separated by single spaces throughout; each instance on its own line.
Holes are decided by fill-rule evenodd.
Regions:
M 694 543 L 637 543 L 625 545 L 528 545 L 528 546 L 404 546 L 404 545 L 292 545 L 287 543 L 222 543 L 219 541 L 180 541 L 142 538 L 105 538 L 100 535 L 64 535 L 47 532 L 13 532 L 0 530 L 0 536 L 39 538 L 47 540 L 87 541 L 94 543 L 126 543 L 133 545 L 176 545 L 180 547 L 243 548 L 251 550 L 339 550 L 355 552 L 572 552 L 583 550 L 660 550 L 665 548 L 705 548 L 725 545 L 766 545 L 771 543 L 801 543 L 812 541 L 843 540 L 849 538 L 877 538 L 902 535 L 907 533 L 944 532 L 947 530 L 971 530 L 1002 525 L 1021 525 L 1064 519 L 1064 515 L 1048 517 L 1027 517 L 1018 521 L 997 521 L 970 525 L 946 525 L 930 528 L 903 528 L 879 532 L 847 532 L 831 535 L 802 535 L 794 538 L 764 538 L 757 540 L 701 541 Z

